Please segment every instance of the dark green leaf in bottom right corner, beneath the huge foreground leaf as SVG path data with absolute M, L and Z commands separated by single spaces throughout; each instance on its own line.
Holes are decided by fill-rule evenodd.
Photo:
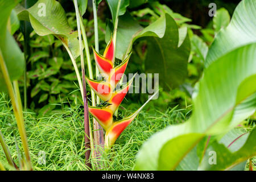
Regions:
M 241 139 L 243 137 L 243 139 Z M 229 170 L 234 166 L 243 163 L 245 160 L 256 155 L 256 128 L 251 131 L 249 137 L 248 135 L 242 135 L 238 140 L 234 140 L 234 143 L 230 143 L 231 146 L 225 146 L 222 143 L 214 142 L 212 146 L 210 146 L 207 150 L 207 154 L 209 151 L 216 152 L 216 164 L 209 164 L 209 156 L 205 156 L 203 162 L 201 163 L 199 169 L 201 170 Z M 240 139 L 240 140 L 239 140 Z M 245 139 L 246 142 L 244 141 Z M 242 146 L 241 146 L 242 144 Z M 241 148 L 239 150 L 234 151 L 233 148 L 238 148 L 236 145 L 240 145 Z M 243 163 L 244 164 L 244 163 Z M 244 165 L 243 168 L 244 169 Z

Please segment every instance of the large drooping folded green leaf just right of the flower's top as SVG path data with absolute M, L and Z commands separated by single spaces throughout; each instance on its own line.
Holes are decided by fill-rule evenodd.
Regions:
M 174 87 L 182 84 L 187 76 L 190 51 L 187 30 L 179 34 L 175 20 L 169 14 L 164 14 L 146 28 L 139 26 L 129 14 L 120 16 L 117 57 L 124 59 L 139 38 L 147 40 L 146 72 L 159 73 L 159 83 L 163 86 Z

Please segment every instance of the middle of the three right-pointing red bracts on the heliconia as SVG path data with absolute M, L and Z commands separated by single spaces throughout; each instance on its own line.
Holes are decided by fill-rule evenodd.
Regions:
M 109 102 L 109 106 L 108 108 L 111 109 L 113 111 L 113 113 L 115 112 L 115 110 L 117 110 L 117 108 L 119 107 L 119 105 L 121 104 L 121 102 L 123 101 L 123 98 L 125 98 L 126 94 L 128 93 L 131 84 L 133 83 L 135 75 L 133 76 L 133 78 L 131 78 L 125 86 L 123 86 L 122 89 L 116 90 L 113 94 L 112 97 L 110 98 Z

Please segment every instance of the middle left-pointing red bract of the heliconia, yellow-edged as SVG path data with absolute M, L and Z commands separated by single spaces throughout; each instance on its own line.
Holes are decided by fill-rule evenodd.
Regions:
M 90 88 L 93 89 L 98 97 L 100 97 L 103 101 L 110 100 L 112 96 L 112 89 L 109 82 L 92 80 L 88 77 L 85 78 Z

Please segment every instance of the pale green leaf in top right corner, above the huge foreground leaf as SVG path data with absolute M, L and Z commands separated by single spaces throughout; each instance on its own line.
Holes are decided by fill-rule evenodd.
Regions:
M 214 60 L 238 47 L 256 42 L 255 12 L 255 0 L 244 0 L 239 3 L 229 26 L 222 29 L 216 35 L 216 39 L 212 46 L 210 46 L 205 67 L 208 67 Z

